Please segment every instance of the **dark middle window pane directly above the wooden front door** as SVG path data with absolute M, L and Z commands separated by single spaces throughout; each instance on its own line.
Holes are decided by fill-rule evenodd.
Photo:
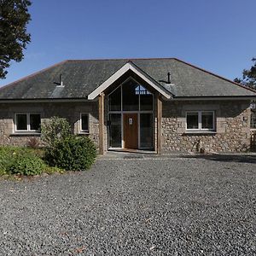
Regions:
M 123 110 L 139 110 L 138 109 L 138 99 L 137 86 L 133 80 L 128 81 L 123 84 Z

